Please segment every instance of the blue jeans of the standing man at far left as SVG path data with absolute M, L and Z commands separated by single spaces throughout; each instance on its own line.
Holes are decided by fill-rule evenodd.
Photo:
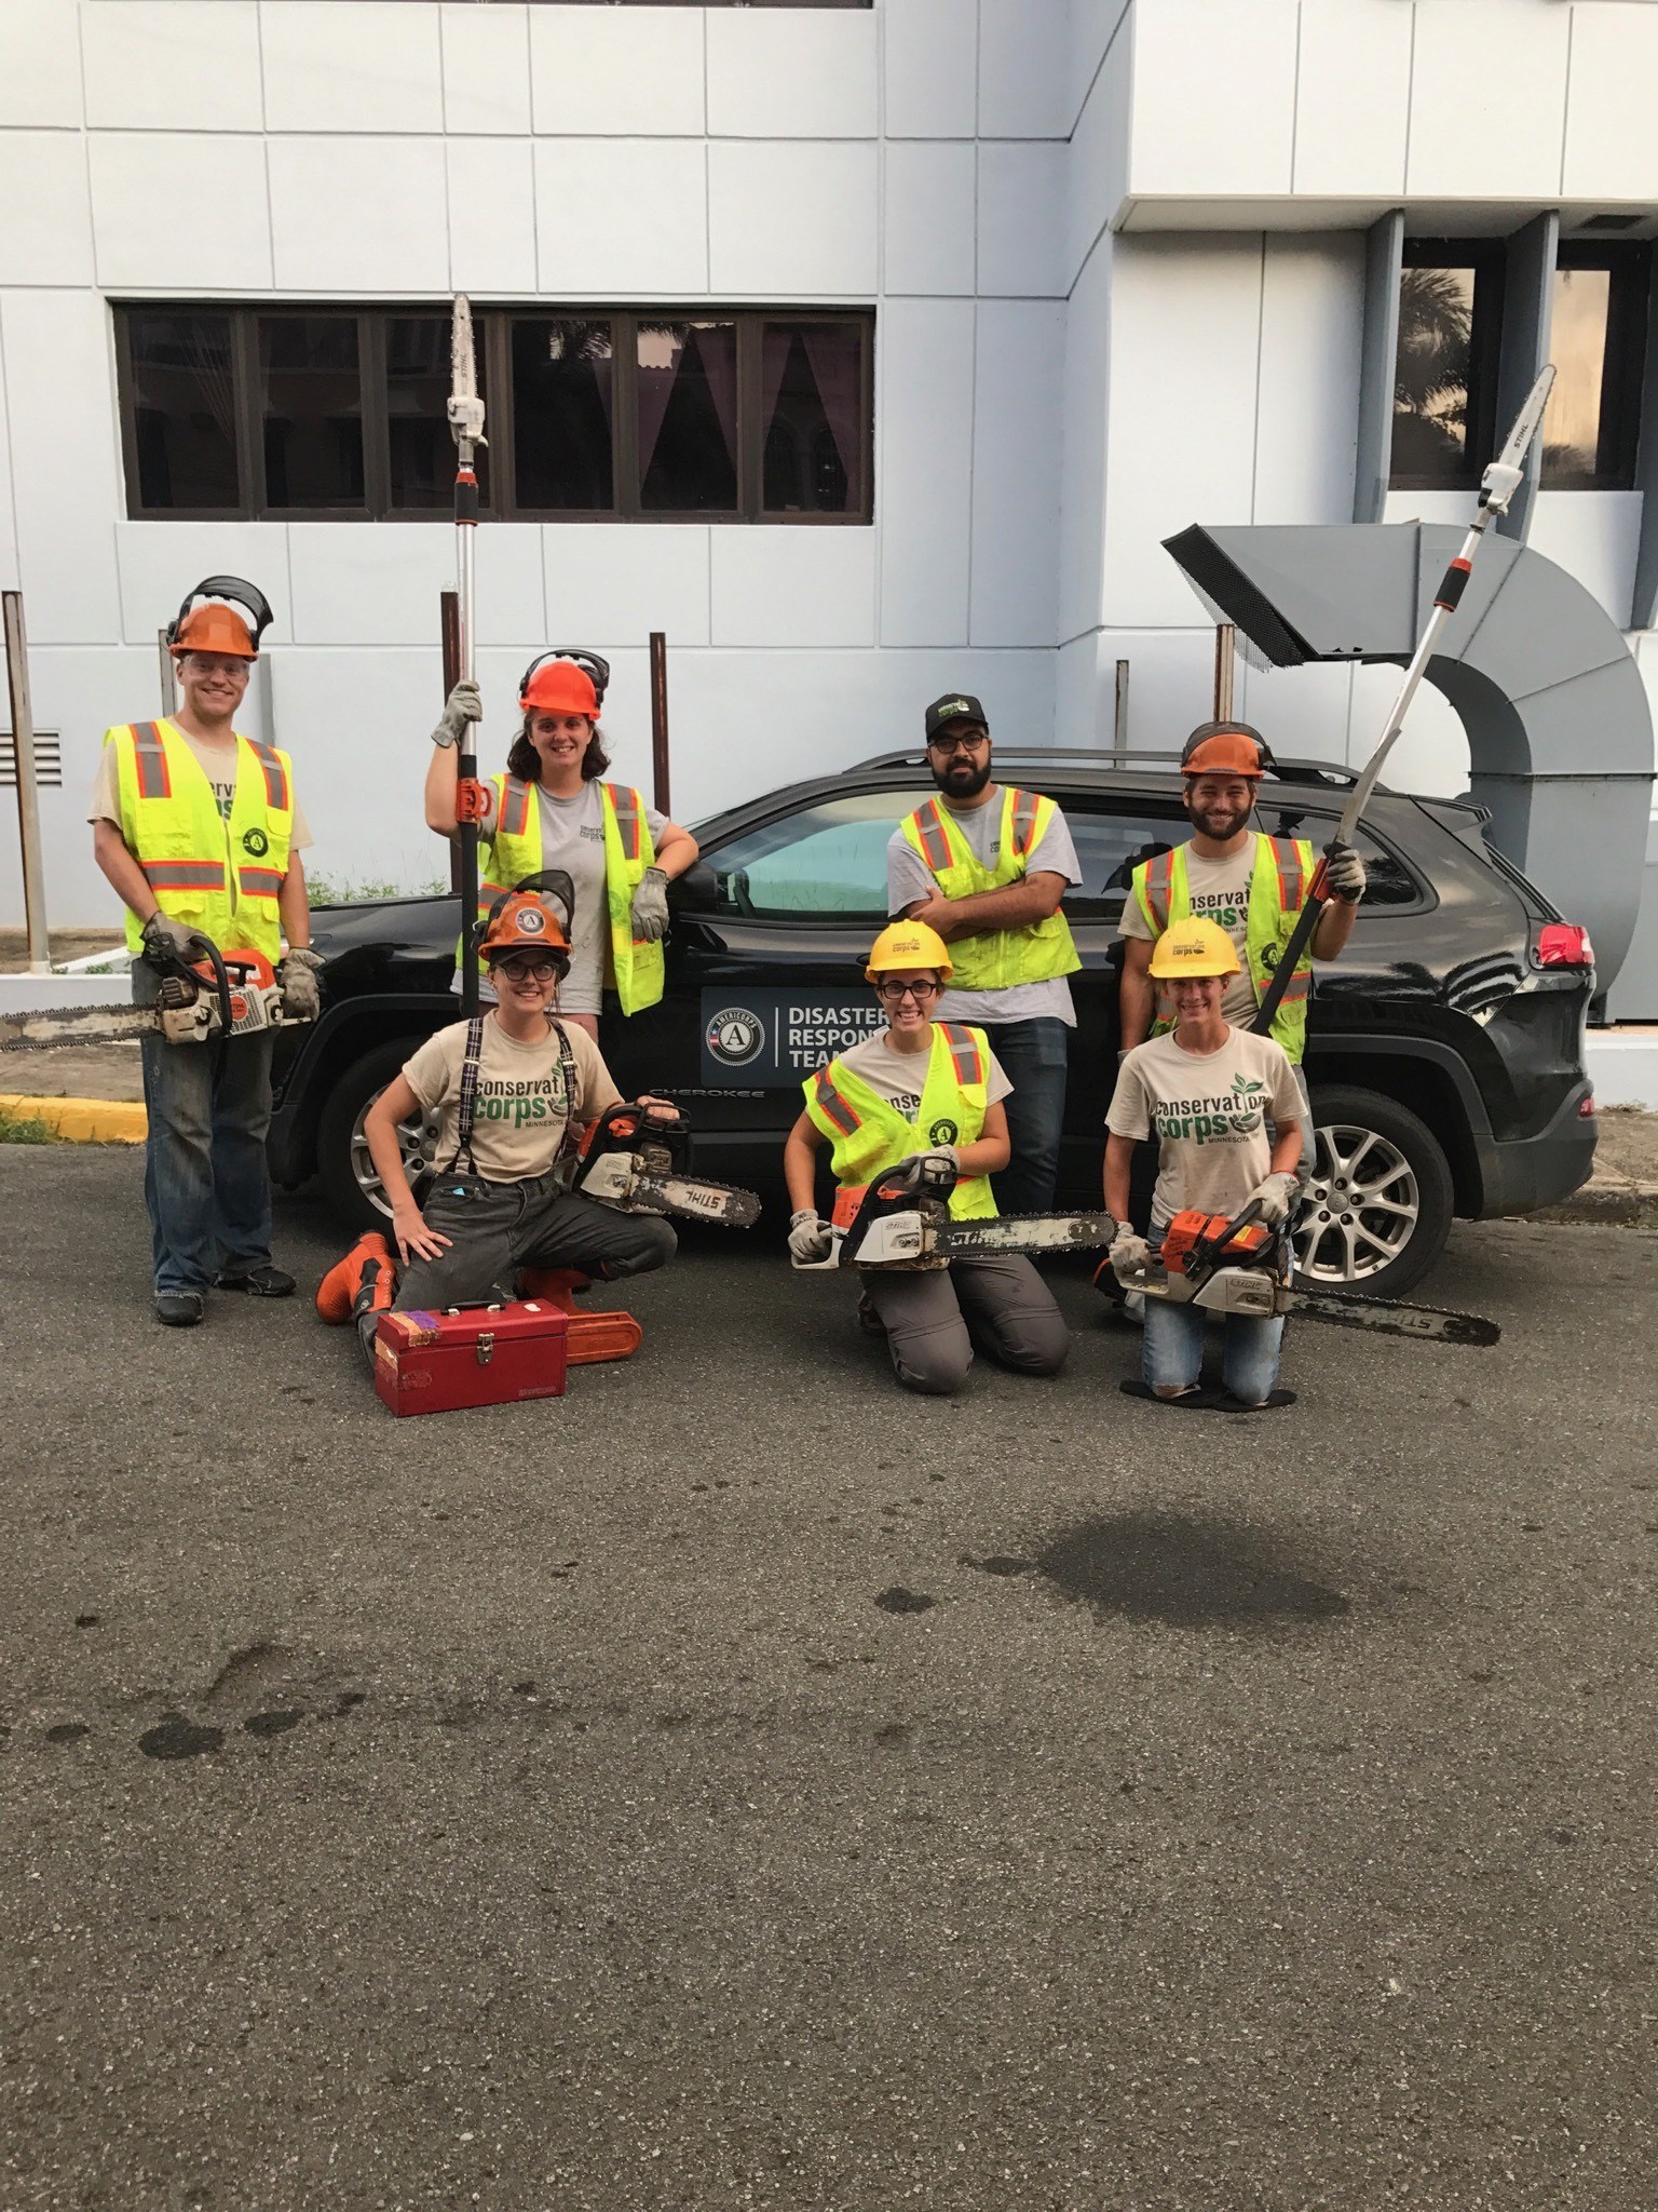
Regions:
M 144 1203 L 157 1290 L 208 1290 L 214 1274 L 270 1265 L 270 1053 L 274 1040 L 168 1044 L 144 1037 Z

